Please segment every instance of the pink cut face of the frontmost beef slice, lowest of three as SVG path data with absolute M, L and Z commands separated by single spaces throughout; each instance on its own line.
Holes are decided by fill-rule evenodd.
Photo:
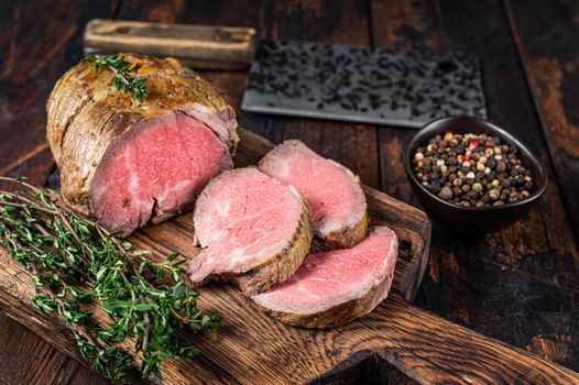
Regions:
M 373 285 L 390 279 L 375 306 L 387 294 L 396 257 L 395 234 L 387 228 L 375 228 L 351 249 L 309 254 L 290 279 L 252 298 L 274 310 L 316 314 L 356 300 Z

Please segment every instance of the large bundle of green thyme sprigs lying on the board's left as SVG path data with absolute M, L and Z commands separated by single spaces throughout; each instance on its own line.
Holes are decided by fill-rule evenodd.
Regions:
M 197 308 L 196 293 L 179 277 L 184 261 L 176 262 L 177 254 L 149 261 L 148 252 L 63 210 L 48 191 L 22 179 L 0 180 L 13 184 L 0 190 L 2 244 L 33 274 L 33 306 L 66 321 L 95 370 L 123 381 L 131 360 L 121 345 L 131 341 L 143 355 L 143 376 L 160 376 L 165 358 L 192 360 L 199 353 L 175 332 L 184 326 L 211 330 L 217 315 Z M 94 302 L 107 312 L 108 324 L 96 322 Z

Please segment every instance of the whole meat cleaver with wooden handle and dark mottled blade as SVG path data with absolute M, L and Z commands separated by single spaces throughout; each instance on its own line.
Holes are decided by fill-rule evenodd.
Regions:
M 175 56 L 194 68 L 247 69 L 243 111 L 419 128 L 451 114 L 487 118 L 477 57 L 297 41 L 251 28 L 92 20 L 85 52 Z

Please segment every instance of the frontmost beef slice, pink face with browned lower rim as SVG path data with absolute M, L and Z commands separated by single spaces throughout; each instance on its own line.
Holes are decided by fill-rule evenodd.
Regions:
M 290 279 L 251 298 L 288 324 L 343 324 L 372 311 L 387 296 L 397 253 L 394 232 L 376 227 L 351 249 L 309 254 Z

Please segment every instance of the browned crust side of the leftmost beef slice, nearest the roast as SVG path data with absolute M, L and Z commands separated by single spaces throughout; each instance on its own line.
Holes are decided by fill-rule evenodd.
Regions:
M 253 272 L 232 277 L 231 280 L 237 283 L 247 296 L 265 292 L 273 285 L 286 280 L 304 262 L 312 245 L 314 230 L 309 205 L 304 199 L 302 199 L 302 205 L 304 209 L 299 224 L 287 246 L 271 262 L 254 268 Z

